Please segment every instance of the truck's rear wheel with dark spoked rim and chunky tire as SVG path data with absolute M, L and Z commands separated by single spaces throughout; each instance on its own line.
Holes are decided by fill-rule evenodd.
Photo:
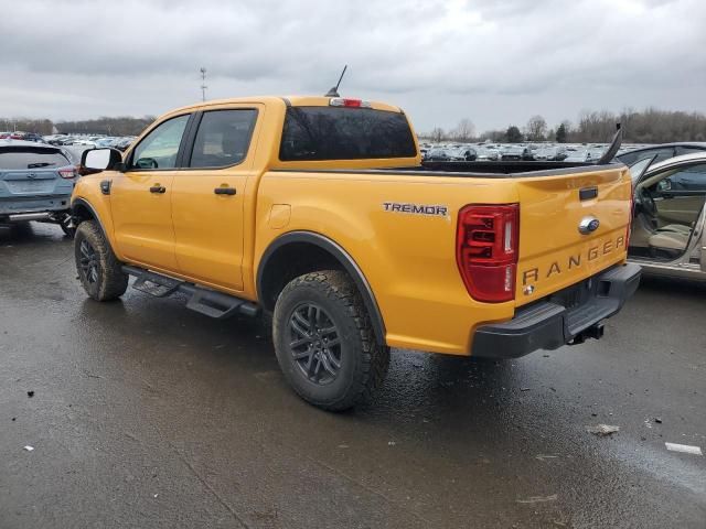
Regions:
M 285 377 L 306 401 L 340 411 L 368 400 L 387 373 L 363 300 L 339 270 L 307 273 L 280 293 L 272 341 Z

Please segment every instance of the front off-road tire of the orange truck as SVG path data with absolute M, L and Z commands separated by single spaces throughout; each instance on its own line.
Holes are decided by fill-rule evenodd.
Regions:
M 92 264 L 95 264 L 95 276 L 88 273 L 85 268 L 87 247 L 84 242 L 95 255 L 95 258 L 90 260 Z M 125 294 L 128 288 L 128 274 L 122 272 L 120 261 L 115 257 L 110 244 L 95 220 L 81 223 L 76 228 L 74 258 L 76 259 L 78 280 L 90 298 L 96 301 L 109 301 Z

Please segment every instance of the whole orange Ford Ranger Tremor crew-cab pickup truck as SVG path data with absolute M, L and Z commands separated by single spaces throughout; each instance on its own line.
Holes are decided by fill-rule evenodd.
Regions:
M 281 370 L 351 408 L 389 348 L 515 358 L 598 338 L 635 291 L 621 163 L 421 164 L 407 115 L 339 97 L 207 101 L 84 152 L 81 283 L 271 315 Z

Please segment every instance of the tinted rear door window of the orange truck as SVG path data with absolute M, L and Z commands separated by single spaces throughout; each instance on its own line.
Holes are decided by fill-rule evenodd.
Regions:
M 211 110 L 204 112 L 194 140 L 190 168 L 227 168 L 247 156 L 257 110 Z

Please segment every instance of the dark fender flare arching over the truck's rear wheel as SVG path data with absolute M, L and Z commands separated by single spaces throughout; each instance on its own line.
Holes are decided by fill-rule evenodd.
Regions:
M 257 296 L 258 299 L 264 299 L 263 295 L 263 274 L 267 269 L 267 264 L 275 252 L 292 242 L 308 242 L 314 246 L 318 246 L 322 250 L 331 253 L 343 267 L 343 269 L 347 272 L 349 276 L 355 282 L 355 285 L 363 298 L 363 303 L 365 304 L 365 309 L 370 314 L 371 322 L 373 324 L 373 330 L 377 335 L 377 339 L 381 344 L 385 345 L 385 321 L 383 320 L 383 314 L 379 311 L 379 306 L 377 305 L 377 301 L 375 300 L 375 294 L 373 293 L 373 289 L 371 288 L 365 274 L 357 266 L 355 260 L 351 257 L 351 255 L 343 249 L 338 242 L 331 240 L 330 238 L 317 234 L 314 231 L 290 231 L 285 234 L 274 241 L 267 247 L 260 262 L 257 268 Z

